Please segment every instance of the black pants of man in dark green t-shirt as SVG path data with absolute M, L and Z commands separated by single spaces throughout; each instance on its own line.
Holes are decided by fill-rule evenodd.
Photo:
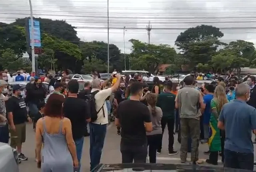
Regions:
M 175 123 L 175 119 L 168 119 L 168 118 L 162 118 L 161 120 L 161 125 L 162 125 L 162 137 L 160 140 L 160 144 L 157 148 L 158 152 L 161 152 L 162 150 L 162 139 L 163 139 L 163 134 L 164 134 L 164 128 L 167 124 L 168 127 L 168 135 L 169 135 L 169 144 L 168 144 L 168 150 L 169 152 L 173 150 L 173 143 L 174 143 L 174 123 Z

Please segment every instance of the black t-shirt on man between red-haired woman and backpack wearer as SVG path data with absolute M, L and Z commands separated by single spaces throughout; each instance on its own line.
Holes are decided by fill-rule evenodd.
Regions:
M 73 139 L 84 137 L 86 120 L 91 118 L 86 102 L 80 98 L 68 97 L 63 104 L 64 116 L 70 119 L 72 124 Z

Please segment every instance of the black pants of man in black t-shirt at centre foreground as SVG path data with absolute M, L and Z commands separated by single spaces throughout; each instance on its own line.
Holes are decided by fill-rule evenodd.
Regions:
M 148 143 L 142 145 L 126 144 L 121 140 L 122 163 L 146 163 Z

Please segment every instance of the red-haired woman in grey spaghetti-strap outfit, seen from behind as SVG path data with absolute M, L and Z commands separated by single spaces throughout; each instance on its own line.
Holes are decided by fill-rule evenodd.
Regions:
M 36 161 L 38 168 L 42 164 L 41 172 L 53 169 L 54 172 L 73 172 L 74 167 L 78 168 L 71 122 L 63 117 L 64 100 L 60 94 L 50 95 L 44 110 L 45 117 L 36 124 Z

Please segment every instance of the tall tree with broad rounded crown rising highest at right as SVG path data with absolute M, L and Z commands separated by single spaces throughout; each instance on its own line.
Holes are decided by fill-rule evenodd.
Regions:
M 195 67 L 198 63 L 205 64 L 211 60 L 218 46 L 226 45 L 218 40 L 222 36 L 224 34 L 219 28 L 201 25 L 180 33 L 175 45 L 190 60 L 190 66 Z

